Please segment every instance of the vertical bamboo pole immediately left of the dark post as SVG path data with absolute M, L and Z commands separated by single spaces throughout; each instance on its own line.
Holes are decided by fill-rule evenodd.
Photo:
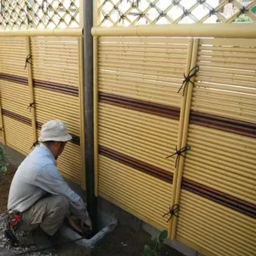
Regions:
M 82 188 L 86 187 L 85 173 L 85 112 L 84 112 L 84 42 L 83 38 L 79 38 L 79 107 L 80 107 L 80 148 L 81 148 L 81 164 L 82 164 Z

